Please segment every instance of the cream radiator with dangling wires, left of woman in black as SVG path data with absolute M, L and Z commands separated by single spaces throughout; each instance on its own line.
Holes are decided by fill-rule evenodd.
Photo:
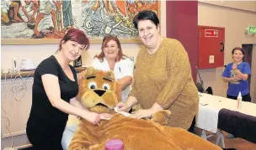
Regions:
M 2 138 L 25 134 L 32 104 L 32 85 L 33 78 L 29 78 L 25 82 L 20 79 L 1 80 Z

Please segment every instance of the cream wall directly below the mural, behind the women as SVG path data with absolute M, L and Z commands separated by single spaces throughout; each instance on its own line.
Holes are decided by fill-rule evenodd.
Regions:
M 122 49 L 126 55 L 136 56 L 140 44 L 122 44 Z M 88 65 L 92 62 L 93 56 L 99 54 L 101 44 L 92 44 L 88 51 L 84 51 L 83 65 Z M 17 68 L 19 70 L 21 59 L 32 58 L 35 65 L 39 65 L 41 60 L 50 56 L 58 49 L 58 44 L 44 45 L 1 45 L 1 69 L 13 69 L 13 58 L 17 59 Z

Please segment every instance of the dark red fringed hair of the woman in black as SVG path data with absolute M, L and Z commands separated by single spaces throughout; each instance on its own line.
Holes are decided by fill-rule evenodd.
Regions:
M 77 29 L 77 28 L 69 29 L 67 31 L 67 34 L 65 34 L 63 39 L 61 39 L 61 43 L 62 42 L 65 43 L 68 40 L 74 41 L 77 44 L 84 45 L 86 50 L 89 49 L 89 47 L 90 47 L 90 41 L 89 41 L 88 37 L 83 33 L 83 31 L 81 31 L 80 29 Z M 61 50 L 61 44 L 59 45 L 58 50 Z

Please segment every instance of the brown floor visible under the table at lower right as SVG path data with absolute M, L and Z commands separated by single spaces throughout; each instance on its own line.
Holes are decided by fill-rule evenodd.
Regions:
M 201 130 L 199 128 L 195 127 L 195 133 L 200 136 Z M 207 133 L 207 135 L 209 135 Z M 224 138 L 225 138 L 225 147 L 226 148 L 235 148 L 237 150 L 256 150 L 256 144 L 253 142 L 248 142 L 246 140 L 243 140 L 242 138 L 228 138 L 228 133 L 223 132 Z M 256 136 L 256 135 L 255 135 Z M 208 141 L 215 143 L 216 142 L 216 136 L 208 138 Z M 221 143 L 219 143 L 221 145 Z

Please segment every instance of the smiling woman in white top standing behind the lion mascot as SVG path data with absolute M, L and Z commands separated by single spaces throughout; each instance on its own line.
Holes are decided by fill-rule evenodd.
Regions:
M 122 52 L 120 40 L 113 35 L 103 39 L 101 53 L 93 59 L 92 66 L 98 70 L 112 70 L 122 90 L 122 101 L 126 101 L 131 91 L 134 64 Z

